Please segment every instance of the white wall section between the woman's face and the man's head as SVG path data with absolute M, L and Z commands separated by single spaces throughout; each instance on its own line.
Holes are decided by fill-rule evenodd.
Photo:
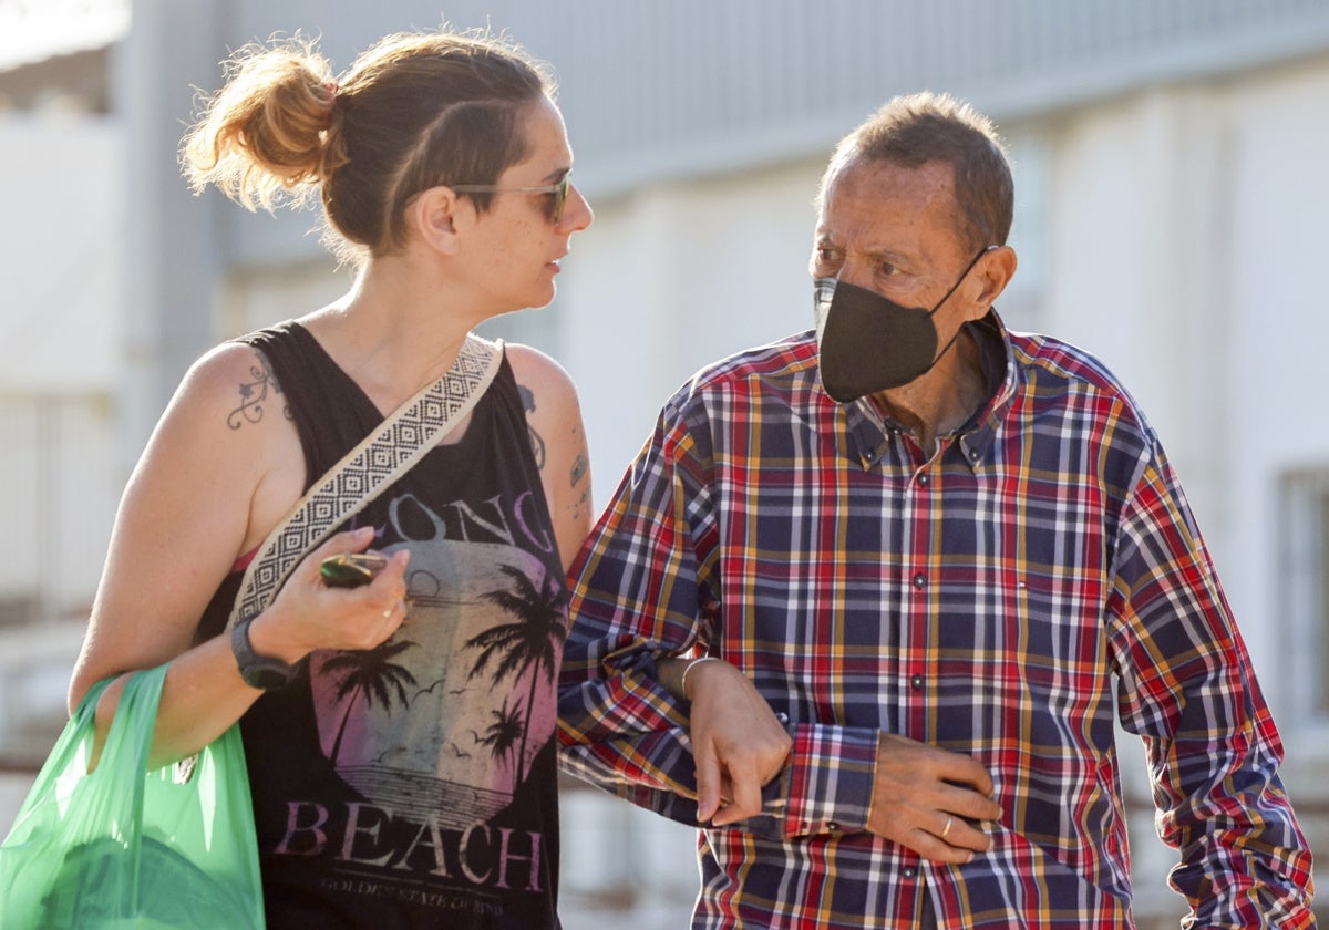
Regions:
M 698 368 L 812 326 L 820 162 L 676 181 L 609 202 L 573 240 L 549 312 L 581 393 L 603 505 Z

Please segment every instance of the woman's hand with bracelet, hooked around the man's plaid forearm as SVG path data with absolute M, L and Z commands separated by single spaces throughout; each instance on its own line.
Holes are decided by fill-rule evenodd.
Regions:
M 675 675 L 687 664 L 670 662 L 676 663 Z M 699 662 L 686 684 L 686 694 L 682 683 L 671 690 L 692 701 L 698 822 L 727 826 L 760 813 L 762 788 L 784 769 L 793 740 L 752 682 L 730 663 Z

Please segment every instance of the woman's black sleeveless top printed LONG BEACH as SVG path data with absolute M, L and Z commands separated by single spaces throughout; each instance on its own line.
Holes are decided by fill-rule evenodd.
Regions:
M 307 329 L 245 336 L 299 430 L 308 486 L 383 417 Z M 557 927 L 554 683 L 562 563 L 504 359 L 460 441 L 340 529 L 411 550 L 408 622 L 315 652 L 241 720 L 271 927 Z M 225 627 L 234 573 L 202 635 Z

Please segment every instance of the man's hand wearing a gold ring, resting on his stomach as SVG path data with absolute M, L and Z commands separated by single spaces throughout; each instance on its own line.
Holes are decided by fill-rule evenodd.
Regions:
M 991 776 L 974 759 L 882 733 L 868 829 L 936 862 L 968 862 L 991 848 L 979 821 L 1001 817 Z

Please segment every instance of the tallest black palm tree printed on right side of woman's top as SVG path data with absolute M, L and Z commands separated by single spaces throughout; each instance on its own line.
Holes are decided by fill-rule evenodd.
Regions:
M 480 650 L 480 656 L 466 676 L 469 682 L 485 672 L 490 659 L 498 659 L 489 680 L 498 684 L 508 675 L 521 678 L 530 672 L 530 690 L 526 696 L 526 717 L 521 720 L 521 747 L 517 751 L 517 784 L 525 780 L 522 763 L 526 756 L 526 737 L 529 735 L 529 720 L 534 716 L 536 684 L 540 672 L 553 684 L 554 674 L 558 671 L 558 659 L 562 655 L 563 640 L 567 639 L 567 623 L 565 604 L 567 591 L 561 581 L 552 574 L 546 574 L 541 587 L 537 590 L 524 571 L 510 565 L 500 565 L 498 570 L 512 579 L 513 587 L 497 591 L 488 591 L 481 595 L 485 601 L 498 604 L 508 614 L 517 618 L 514 623 L 502 623 L 480 632 L 466 640 L 466 648 Z M 498 658 L 501 656 L 501 658 Z M 497 711 L 493 712 L 497 716 Z M 504 715 L 510 713 L 512 719 L 520 720 L 517 709 L 504 708 Z M 496 724 L 497 725 L 497 724 Z M 490 727 L 493 731 L 493 727 Z

